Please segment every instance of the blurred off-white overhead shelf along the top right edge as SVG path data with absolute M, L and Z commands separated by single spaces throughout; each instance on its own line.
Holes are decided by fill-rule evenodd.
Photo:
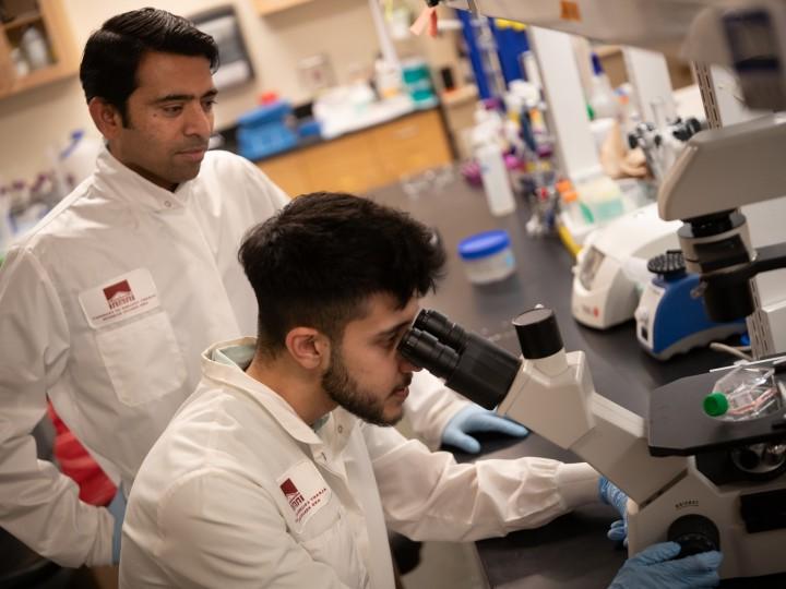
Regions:
M 786 110 L 786 2 L 778 0 L 443 0 L 445 5 L 600 43 L 730 67 L 748 108 Z

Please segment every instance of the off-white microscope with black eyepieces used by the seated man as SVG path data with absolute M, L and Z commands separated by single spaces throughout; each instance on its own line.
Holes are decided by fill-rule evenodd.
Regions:
M 692 135 L 658 194 L 707 313 L 748 318 L 758 339 L 786 325 L 761 315 L 752 278 L 786 267 L 786 243 L 755 249 L 740 207 L 786 192 L 786 116 L 767 115 Z M 759 316 L 759 321 L 755 320 Z M 718 549 L 722 578 L 786 572 L 786 354 L 747 364 L 767 369 L 776 410 L 750 419 L 708 414 L 704 399 L 737 366 L 652 392 L 647 419 L 594 388 L 582 351 L 565 352 L 548 309 L 513 320 L 516 358 L 434 311 L 418 315 L 400 351 L 475 402 L 572 450 L 629 496 L 629 553 L 665 540 L 682 555 Z M 766 349 L 760 347 L 759 349 Z M 781 351 L 783 350 L 775 350 Z

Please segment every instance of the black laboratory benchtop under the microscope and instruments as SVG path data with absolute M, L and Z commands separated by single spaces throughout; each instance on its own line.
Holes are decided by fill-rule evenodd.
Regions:
M 368 194 L 374 201 L 409 212 L 433 227 L 448 252 L 448 272 L 437 292 L 421 302 L 465 328 L 481 334 L 508 351 L 520 354 L 511 320 L 540 303 L 555 310 L 568 351 L 583 350 L 596 390 L 646 417 L 650 392 L 683 376 L 731 363 L 733 358 L 710 349 L 693 350 L 669 361 L 650 357 L 636 341 L 634 323 L 608 330 L 577 324 L 571 314 L 571 283 L 574 260 L 556 236 L 531 237 L 525 231 L 528 207 L 519 200 L 515 213 L 492 217 L 481 189 L 464 182 L 457 170 L 439 189 L 408 195 L 392 184 Z M 503 281 L 473 285 L 464 275 L 456 253 L 463 238 L 489 229 L 510 233 L 516 272 Z M 483 458 L 545 456 L 567 462 L 579 458 L 535 433 L 523 441 L 481 436 Z M 477 456 L 455 453 L 458 461 Z M 475 543 L 488 587 L 526 589 L 593 589 L 609 585 L 622 566 L 627 552 L 606 538 L 618 519 L 608 505 L 594 504 L 559 517 L 543 528 L 522 530 L 504 538 Z M 770 585 L 755 579 L 755 587 L 784 587 L 779 576 Z M 751 587 L 751 579 L 724 581 L 722 587 Z

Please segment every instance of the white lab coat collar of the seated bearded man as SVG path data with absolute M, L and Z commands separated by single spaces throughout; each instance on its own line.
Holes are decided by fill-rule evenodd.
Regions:
M 295 440 L 312 446 L 322 446 L 325 441 L 311 429 L 277 393 L 269 386 L 252 378 L 242 368 L 228 363 L 226 358 L 237 358 L 237 354 L 227 353 L 227 349 L 239 346 L 255 347 L 257 339 L 243 337 L 229 341 L 215 344 L 202 352 L 202 374 L 212 381 L 217 381 L 247 393 L 255 402 L 261 405 Z M 222 358 L 214 360 L 214 358 Z M 349 433 L 357 424 L 357 418 L 341 407 L 330 412 L 325 423 L 320 423 L 319 430 L 326 429 L 331 446 L 335 452 L 346 445 Z

